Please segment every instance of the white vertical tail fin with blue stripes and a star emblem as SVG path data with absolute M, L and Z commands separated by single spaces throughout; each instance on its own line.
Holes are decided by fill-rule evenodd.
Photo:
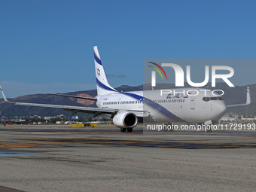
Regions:
M 94 50 L 94 62 L 95 62 L 95 72 L 97 81 L 97 93 L 98 96 L 106 95 L 109 93 L 117 92 L 113 87 L 108 84 L 107 76 L 105 75 L 105 70 L 102 65 L 102 59 L 99 56 L 98 47 L 93 47 Z

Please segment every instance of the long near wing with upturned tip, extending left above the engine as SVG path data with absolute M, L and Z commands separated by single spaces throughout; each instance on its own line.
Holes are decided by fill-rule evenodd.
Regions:
M 44 108 L 62 108 L 66 111 L 72 111 L 72 115 L 76 114 L 78 112 L 84 112 L 93 114 L 93 117 L 96 117 L 99 114 L 117 114 L 119 109 L 113 109 L 113 108 L 90 108 L 90 107 L 83 107 L 83 106 L 71 106 L 71 105 L 50 105 L 50 104 L 40 104 L 40 103 L 29 103 L 29 102 L 10 102 L 5 96 L 4 91 L 2 90 L 2 87 L 0 85 L 0 89 L 2 91 L 2 95 L 5 99 L 5 102 L 14 104 L 14 105 L 25 105 L 25 106 L 34 106 L 34 107 L 44 107 Z M 131 111 L 134 114 L 136 114 L 137 117 L 148 117 L 149 113 L 145 111 Z

